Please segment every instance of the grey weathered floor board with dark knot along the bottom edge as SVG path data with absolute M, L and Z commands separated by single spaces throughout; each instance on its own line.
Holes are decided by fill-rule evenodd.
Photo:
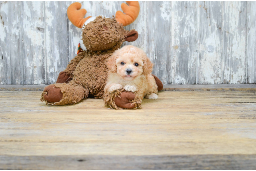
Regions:
M 256 155 L 0 156 L 2 169 L 41 170 L 253 170 L 255 162 Z

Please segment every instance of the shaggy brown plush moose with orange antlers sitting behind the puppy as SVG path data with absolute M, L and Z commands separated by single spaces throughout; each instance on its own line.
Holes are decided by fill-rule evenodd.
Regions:
M 124 41 L 135 41 L 138 32 L 127 31 L 124 26 L 131 24 L 139 15 L 139 2 L 126 1 L 121 8 L 124 11 L 116 12 L 116 17 L 102 16 L 87 17 L 81 4 L 75 2 L 67 9 L 69 20 L 82 29 L 80 51 L 69 62 L 67 68 L 59 74 L 55 84 L 44 88 L 41 101 L 52 105 L 75 104 L 89 95 L 94 98 L 104 97 L 104 87 L 107 80 L 108 69 L 106 60 L 119 49 Z M 155 77 L 158 91 L 162 90 L 162 82 Z M 122 92 L 112 95 L 113 105 L 121 108 L 135 108 L 132 101 L 135 95 L 132 92 Z

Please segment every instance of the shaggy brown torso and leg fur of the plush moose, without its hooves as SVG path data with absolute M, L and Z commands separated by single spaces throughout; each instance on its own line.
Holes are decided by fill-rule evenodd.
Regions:
M 105 60 L 111 56 L 113 52 L 97 52 L 82 51 L 74 58 L 76 62 L 80 60 L 75 70 L 69 70 L 71 62 L 64 70 L 66 73 L 72 74 L 73 78 L 68 83 L 56 83 L 56 88 L 61 88 L 63 97 L 56 105 L 65 105 L 77 103 L 82 98 L 93 95 L 95 98 L 103 98 L 104 87 L 107 79 L 107 67 Z M 76 63 L 75 62 L 75 63 Z

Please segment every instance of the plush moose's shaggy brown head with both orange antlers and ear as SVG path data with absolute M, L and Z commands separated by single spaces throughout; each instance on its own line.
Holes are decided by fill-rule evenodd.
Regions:
M 116 17 L 105 18 L 102 16 L 83 18 L 85 9 L 81 9 L 81 4 L 75 2 L 67 9 L 69 20 L 77 27 L 82 28 L 81 47 L 90 51 L 104 51 L 108 49 L 118 49 L 124 41 L 135 41 L 138 32 L 127 31 L 124 26 L 131 24 L 139 15 L 140 6 L 138 1 L 126 1 L 121 4 L 122 10 L 116 12 Z

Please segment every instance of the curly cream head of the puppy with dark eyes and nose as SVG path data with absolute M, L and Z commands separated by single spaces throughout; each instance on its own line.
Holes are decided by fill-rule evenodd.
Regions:
M 108 70 L 125 80 L 133 80 L 142 74 L 150 74 L 153 64 L 143 50 L 132 45 L 124 46 L 113 53 L 107 62 Z

